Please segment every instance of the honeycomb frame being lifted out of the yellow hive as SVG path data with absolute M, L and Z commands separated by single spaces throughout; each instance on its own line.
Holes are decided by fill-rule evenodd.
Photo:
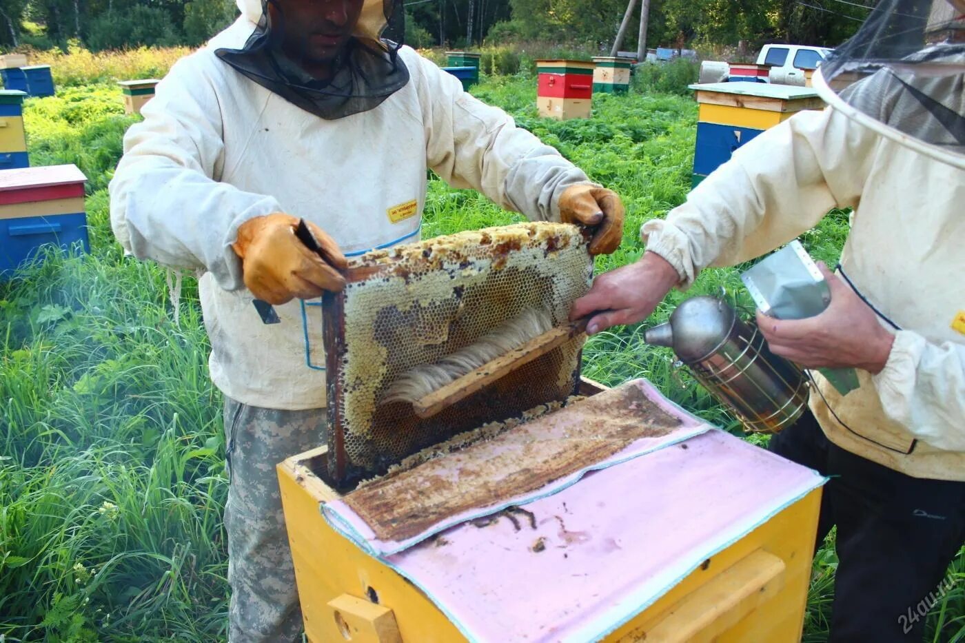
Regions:
M 347 285 L 326 294 L 329 474 L 345 487 L 427 446 L 486 422 L 516 417 L 576 391 L 582 337 L 421 419 L 411 404 L 383 403 L 413 367 L 463 349 L 525 311 L 567 320 L 593 274 L 575 226 L 522 223 L 373 251 Z

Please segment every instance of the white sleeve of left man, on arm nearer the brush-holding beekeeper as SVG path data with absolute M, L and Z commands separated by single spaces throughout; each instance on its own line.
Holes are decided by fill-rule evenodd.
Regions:
M 531 220 L 558 221 L 560 194 L 587 175 L 501 109 L 462 91 L 453 76 L 418 58 L 428 166 L 443 181 L 473 188 Z

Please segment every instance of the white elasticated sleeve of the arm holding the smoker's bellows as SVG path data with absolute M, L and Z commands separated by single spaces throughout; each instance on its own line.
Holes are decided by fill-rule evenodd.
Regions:
M 892 420 L 934 447 L 965 451 L 965 346 L 900 330 L 872 380 Z

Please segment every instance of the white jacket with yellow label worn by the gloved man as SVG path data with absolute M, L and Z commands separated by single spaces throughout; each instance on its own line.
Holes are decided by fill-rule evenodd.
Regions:
M 318 408 L 325 387 L 317 372 L 298 368 L 301 307 L 279 306 L 282 322 L 262 323 L 231 248 L 239 224 L 285 211 L 317 223 L 352 256 L 418 240 L 427 167 L 535 220 L 559 220 L 565 188 L 589 180 L 408 47 L 398 56 L 411 78 L 391 97 L 369 111 L 318 118 L 218 57 L 243 48 L 262 17 L 261 0 L 238 6 L 231 27 L 158 83 L 144 122 L 126 134 L 111 221 L 137 257 L 204 272 L 219 389 L 249 405 Z M 308 329 L 320 346 L 320 319 Z

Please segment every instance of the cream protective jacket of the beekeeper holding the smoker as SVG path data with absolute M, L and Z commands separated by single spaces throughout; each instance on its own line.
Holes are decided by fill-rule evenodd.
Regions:
M 915 3 L 898 4 L 903 14 Z M 689 284 L 704 266 L 759 257 L 828 210 L 853 208 L 840 273 L 896 340 L 885 369 L 859 372 L 861 388 L 847 396 L 814 372 L 813 412 L 848 451 L 965 481 L 965 44 L 880 70 L 848 51 L 815 74 L 829 108 L 761 133 L 642 235 Z M 867 77 L 841 95 L 828 85 L 828 74 L 841 86 L 859 72 Z

